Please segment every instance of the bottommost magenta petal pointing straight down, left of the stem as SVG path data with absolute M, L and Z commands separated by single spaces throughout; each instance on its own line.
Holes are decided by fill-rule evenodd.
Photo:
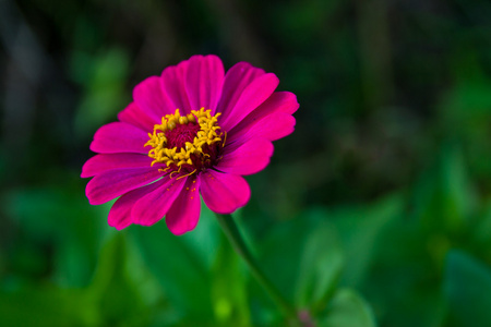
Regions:
M 200 220 L 200 179 L 188 178 L 185 187 L 173 202 L 166 216 L 166 223 L 175 235 L 193 230 Z

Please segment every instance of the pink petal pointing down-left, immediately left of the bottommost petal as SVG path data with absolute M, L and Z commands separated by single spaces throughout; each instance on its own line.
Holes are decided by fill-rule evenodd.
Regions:
M 172 203 L 181 193 L 185 178 L 176 180 L 165 177 L 157 190 L 140 198 L 131 213 L 134 223 L 151 226 L 164 218 Z

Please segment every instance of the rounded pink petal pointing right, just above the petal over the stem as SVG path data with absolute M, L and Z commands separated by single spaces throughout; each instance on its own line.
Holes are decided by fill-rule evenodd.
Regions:
M 273 155 L 273 144 L 265 138 L 252 138 L 238 148 L 226 146 L 216 169 L 232 174 L 251 174 L 263 170 Z

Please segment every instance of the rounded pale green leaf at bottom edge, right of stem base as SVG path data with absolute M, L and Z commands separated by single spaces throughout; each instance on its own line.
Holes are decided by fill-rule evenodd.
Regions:
M 320 327 L 374 327 L 373 313 L 367 302 L 350 289 L 336 292 L 330 302 Z

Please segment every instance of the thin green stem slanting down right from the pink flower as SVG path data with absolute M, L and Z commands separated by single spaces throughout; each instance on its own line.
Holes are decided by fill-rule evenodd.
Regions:
M 228 237 L 228 240 L 232 244 L 233 249 L 237 253 L 243 258 L 246 264 L 249 266 L 252 275 L 255 279 L 261 283 L 267 293 L 273 298 L 276 304 L 282 308 L 282 311 L 292 319 L 297 319 L 297 313 L 295 307 L 279 293 L 278 289 L 270 281 L 270 279 L 264 275 L 264 272 L 260 269 L 256 261 L 252 256 L 249 251 L 246 242 L 240 234 L 236 222 L 231 215 L 220 215 L 216 214 L 219 225 L 224 230 L 225 234 Z

